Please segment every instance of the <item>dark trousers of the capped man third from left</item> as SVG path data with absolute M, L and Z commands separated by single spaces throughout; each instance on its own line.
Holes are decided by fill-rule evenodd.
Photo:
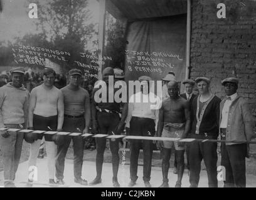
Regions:
M 80 131 L 78 131 L 78 129 Z M 85 119 L 84 118 L 64 118 L 63 131 L 71 133 L 80 133 L 85 129 Z M 83 146 L 85 140 L 82 136 L 63 136 L 63 144 L 58 146 L 57 156 L 56 156 L 56 178 L 63 179 L 64 167 L 65 167 L 65 156 L 70 146 L 71 140 L 73 140 L 73 153 L 74 153 L 74 176 L 80 179 L 82 176 L 82 166 L 83 166 Z

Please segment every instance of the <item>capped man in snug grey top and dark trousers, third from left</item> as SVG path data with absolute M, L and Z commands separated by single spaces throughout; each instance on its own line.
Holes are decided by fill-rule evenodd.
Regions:
M 82 83 L 82 72 L 80 69 L 69 71 L 70 83 L 65 88 L 61 88 L 64 98 L 64 123 L 63 131 L 70 133 L 88 133 L 90 125 L 90 96 L 86 89 L 80 87 Z M 59 136 L 63 138 L 63 143 L 58 144 L 56 156 L 56 178 L 58 184 L 65 184 L 63 173 L 65 166 L 65 156 L 73 141 L 74 150 L 74 177 L 75 183 L 87 185 L 87 181 L 82 179 L 83 166 L 83 146 L 85 140 L 82 136 Z

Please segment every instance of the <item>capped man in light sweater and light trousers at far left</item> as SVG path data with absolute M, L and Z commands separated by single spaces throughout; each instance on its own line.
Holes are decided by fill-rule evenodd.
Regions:
M 24 73 L 23 68 L 13 69 L 13 82 L 0 88 L 0 128 L 26 128 L 29 92 L 23 86 Z M 1 131 L 5 187 L 15 187 L 13 181 L 21 157 L 23 138 L 23 133 Z

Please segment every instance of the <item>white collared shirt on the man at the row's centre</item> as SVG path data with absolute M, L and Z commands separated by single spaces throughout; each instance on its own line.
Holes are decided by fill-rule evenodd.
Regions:
M 151 95 L 155 101 L 150 99 Z M 129 99 L 128 114 L 125 121 L 126 127 L 130 127 L 132 117 L 154 119 L 157 127 L 159 108 L 161 108 L 161 100 L 156 94 L 151 93 L 149 95 L 141 92 L 132 94 Z

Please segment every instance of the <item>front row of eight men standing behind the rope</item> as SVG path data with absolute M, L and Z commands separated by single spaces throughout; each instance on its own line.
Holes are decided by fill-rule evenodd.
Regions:
M 109 85 L 109 77 L 114 76 L 114 69 L 105 68 L 102 75 L 107 84 L 107 102 L 95 101 L 95 93 L 100 89 L 95 87 L 92 94 L 92 104 L 88 92 L 80 88 L 82 72 L 72 69 L 69 72 L 70 83 L 65 88 L 53 86 L 55 71 L 46 68 L 43 71 L 43 84 L 34 88 L 29 95 L 23 86 L 24 69 L 11 71 L 13 82 L 0 88 L 0 128 L 33 129 L 41 131 L 65 131 L 70 133 L 88 133 L 90 118 L 92 118 L 92 133 L 121 134 L 124 126 L 130 136 L 159 136 L 165 138 L 195 138 L 221 139 L 237 143 L 221 143 L 221 165 L 226 168 L 225 186 L 245 186 L 245 156 L 248 154 L 247 142 L 252 138 L 252 116 L 247 103 L 238 96 L 238 79 L 227 78 L 222 81 L 227 98 L 220 98 L 210 92 L 210 79 L 200 77 L 195 82 L 187 79 L 183 82 L 186 93 L 179 96 L 179 84 L 176 79 L 168 79 L 166 87 L 168 96 L 161 108 L 157 109 L 150 101 L 153 95 L 157 105 L 161 99 L 151 94 L 152 80 L 141 76 L 141 91 L 132 94 L 129 103 L 109 101 L 109 90 L 118 89 Z M 169 76 L 169 75 L 168 75 Z M 121 76 L 120 76 L 121 77 Z M 115 76 L 117 78 L 117 76 Z M 123 76 L 122 76 L 123 78 Z M 117 81 L 117 79 L 115 79 Z M 197 84 L 199 96 L 192 93 Z M 147 88 L 147 89 L 145 89 Z M 134 101 L 135 99 L 135 101 Z M 141 101 L 148 99 L 149 101 Z M 28 126 L 27 126 L 28 125 Z M 13 181 L 18 169 L 23 138 L 31 143 L 29 167 L 36 166 L 36 158 L 45 137 L 48 159 L 48 174 L 50 184 L 65 184 L 63 172 L 65 156 L 71 140 L 74 150 L 75 183 L 87 185 L 82 179 L 83 145 L 82 136 L 63 136 L 60 134 L 16 133 L 1 131 L 1 151 L 3 152 L 5 186 L 14 186 Z M 151 160 L 153 145 L 151 140 L 131 139 L 131 165 L 129 186 L 134 186 L 137 180 L 139 149 L 143 148 L 144 166 L 143 180 L 146 187 L 151 187 Z M 105 138 L 96 138 L 96 178 L 90 185 L 102 182 L 102 164 L 106 146 Z M 163 184 L 168 187 L 168 169 L 171 148 L 176 149 L 178 181 L 176 187 L 181 187 L 184 172 L 184 143 L 179 141 L 157 141 L 163 156 Z M 189 163 L 189 182 L 191 187 L 197 187 L 200 179 L 201 161 L 204 159 L 210 187 L 217 187 L 217 144 L 210 141 L 192 141 L 187 143 L 187 158 Z M 112 168 L 114 187 L 119 187 L 117 172 L 119 169 L 119 139 L 110 140 L 112 153 Z M 55 173 L 56 169 L 56 173 Z M 55 182 L 56 175 L 56 182 Z M 32 184 L 33 180 L 28 179 Z

